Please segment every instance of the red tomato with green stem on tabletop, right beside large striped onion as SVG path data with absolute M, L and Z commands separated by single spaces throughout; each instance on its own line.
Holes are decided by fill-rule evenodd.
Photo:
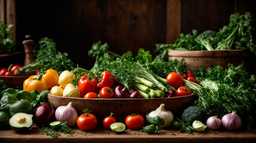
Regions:
M 98 121 L 94 114 L 90 114 L 91 111 L 88 109 L 83 110 L 85 114 L 80 115 L 77 118 L 77 126 L 81 130 L 93 130 L 97 127 Z

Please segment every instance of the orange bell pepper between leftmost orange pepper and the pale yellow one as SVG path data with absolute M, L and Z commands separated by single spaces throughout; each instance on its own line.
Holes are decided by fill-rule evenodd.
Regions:
M 49 88 L 52 88 L 53 86 L 59 86 L 59 74 L 53 69 L 46 70 L 42 79 L 46 81 Z

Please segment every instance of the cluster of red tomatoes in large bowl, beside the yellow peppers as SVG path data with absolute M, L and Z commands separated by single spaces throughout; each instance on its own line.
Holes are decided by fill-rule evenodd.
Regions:
M 103 71 L 101 76 L 86 74 L 79 80 L 79 92 L 83 98 L 114 98 L 114 83 L 115 77 L 109 71 Z

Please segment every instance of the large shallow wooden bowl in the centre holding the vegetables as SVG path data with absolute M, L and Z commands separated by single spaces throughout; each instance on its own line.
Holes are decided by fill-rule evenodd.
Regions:
M 181 113 L 189 105 L 192 105 L 195 100 L 195 94 L 186 95 L 183 97 L 171 97 L 171 98 L 112 98 L 112 99 L 85 99 L 85 98 L 70 98 L 70 97 L 58 97 L 52 94 L 48 94 L 48 100 L 53 107 L 58 108 L 61 105 L 67 105 L 72 102 L 74 108 L 76 108 L 79 114 L 82 114 L 82 110 L 89 108 L 92 114 L 95 114 L 98 121 L 110 113 L 115 113 L 115 117 L 121 121 L 125 121 L 131 113 L 138 113 L 143 116 L 147 112 L 153 111 L 159 107 L 160 104 L 165 104 L 165 110 L 170 110 L 175 114 Z

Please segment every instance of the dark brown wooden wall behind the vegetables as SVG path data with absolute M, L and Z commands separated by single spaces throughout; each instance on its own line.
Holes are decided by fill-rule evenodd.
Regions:
M 139 48 L 155 56 L 156 43 L 173 43 L 180 33 L 218 31 L 233 13 L 256 14 L 255 1 L 243 0 L 23 0 L 16 1 L 17 48 L 25 35 L 37 43 L 52 38 L 57 51 L 91 69 L 93 43 L 107 42 L 117 54 Z

